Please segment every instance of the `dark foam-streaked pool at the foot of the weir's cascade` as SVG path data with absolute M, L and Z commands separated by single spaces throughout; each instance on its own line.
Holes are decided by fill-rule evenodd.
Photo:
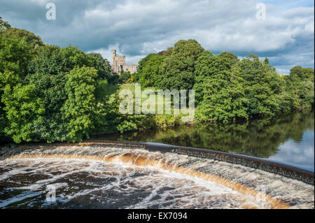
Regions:
M 80 159 L 2 165 L 0 208 L 269 208 L 214 182 L 148 166 Z M 56 188 L 56 202 L 45 201 L 46 185 Z

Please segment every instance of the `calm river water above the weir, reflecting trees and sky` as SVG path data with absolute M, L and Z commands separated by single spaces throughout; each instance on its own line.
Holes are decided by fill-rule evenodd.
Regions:
M 255 120 L 248 124 L 193 124 L 91 140 L 166 143 L 269 158 L 314 170 L 314 111 Z

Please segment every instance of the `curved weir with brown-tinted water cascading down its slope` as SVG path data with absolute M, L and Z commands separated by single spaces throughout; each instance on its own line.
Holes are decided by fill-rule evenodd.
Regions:
M 189 190 L 189 193 L 195 193 L 196 200 L 194 200 L 195 203 L 189 201 L 188 208 L 200 208 L 198 206 L 200 202 L 203 204 L 202 208 L 232 208 L 232 204 L 236 205 L 237 208 L 314 208 L 314 172 L 296 166 L 226 152 L 184 148 L 159 143 L 90 141 L 76 144 L 55 143 L 47 145 L 38 143 L 19 145 L 17 148 L 3 147 L 0 150 L 0 157 L 0 167 L 4 166 L 4 169 L 6 166 L 10 166 L 10 163 L 25 166 L 25 161 L 28 161 L 29 164 L 36 160 L 41 161 L 41 163 L 44 163 L 44 160 L 50 162 L 66 160 L 71 163 L 75 159 L 81 161 L 84 165 L 90 165 L 86 164 L 88 160 L 100 161 L 106 165 L 119 164 L 115 168 L 123 169 L 125 174 L 128 172 L 124 168 L 132 168 L 132 170 L 141 168 L 141 170 L 137 169 L 137 174 L 151 170 L 153 172 L 149 171 L 149 173 L 143 175 L 144 179 L 147 178 L 145 182 L 148 188 L 159 184 L 159 182 L 156 182 L 156 179 L 159 178 L 158 175 L 160 177 L 162 175 L 164 179 L 171 178 L 169 174 L 179 174 L 176 177 L 172 176 L 172 180 L 169 180 L 162 188 L 167 188 L 167 185 L 172 185 L 174 182 L 181 182 L 179 183 L 180 188 L 186 188 L 185 185 L 190 185 L 193 182 L 194 186 L 192 187 L 195 188 L 195 192 Z M 121 164 L 127 164 L 128 166 L 122 167 Z M 47 166 L 48 164 L 43 165 Z M 55 168 L 61 167 L 55 166 Z M 68 166 L 68 168 L 73 167 Z M 76 166 L 76 169 L 80 171 L 80 165 Z M 155 173 L 155 171 L 164 172 Z M 10 178 L 10 174 L 6 171 L 3 171 L 3 173 L 0 175 L 1 183 L 5 182 L 6 178 Z M 115 175 L 115 173 L 112 175 Z M 181 180 L 179 180 L 179 176 Z M 132 180 L 137 182 L 139 179 L 132 178 Z M 203 186 L 200 185 L 199 180 L 202 180 Z M 204 182 L 207 182 L 206 185 L 210 185 L 204 186 Z M 179 185 L 176 187 L 179 187 Z M 174 186 L 174 188 L 176 187 Z M 203 187 L 205 189 L 202 189 Z M 134 190 L 134 187 L 132 189 Z M 216 194 L 216 196 L 211 194 L 211 196 L 205 198 L 203 191 L 207 191 L 207 189 L 211 192 L 223 189 L 223 192 Z M 118 191 L 120 190 L 118 189 Z M 167 189 L 162 189 L 160 193 L 165 193 L 165 190 Z M 184 194 L 187 193 L 185 189 L 184 192 L 179 192 L 178 196 L 181 202 L 175 199 L 172 205 L 181 203 L 175 208 L 186 207 L 185 203 L 187 201 Z M 155 196 L 160 195 L 156 193 Z M 148 196 L 151 199 L 147 199 L 147 202 L 139 201 L 132 207 L 148 208 L 148 204 L 155 203 L 153 199 L 155 196 L 151 194 Z M 172 196 L 174 196 L 174 193 Z M 203 200 L 199 201 L 198 198 Z M 211 202 L 209 203 L 209 201 Z M 215 201 L 221 201 L 219 202 L 220 205 Z M 10 199 L 4 203 L 10 203 Z M 167 203 L 167 201 L 163 200 L 160 203 Z M 225 205 L 222 206 L 222 203 L 225 203 Z M 163 208 L 174 207 L 167 205 L 165 204 Z M 123 207 L 125 206 L 120 208 Z

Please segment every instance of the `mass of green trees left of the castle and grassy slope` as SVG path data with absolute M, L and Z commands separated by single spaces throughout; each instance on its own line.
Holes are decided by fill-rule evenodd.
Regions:
M 145 115 L 120 115 L 107 59 L 0 22 L 0 140 L 76 142 L 146 125 Z

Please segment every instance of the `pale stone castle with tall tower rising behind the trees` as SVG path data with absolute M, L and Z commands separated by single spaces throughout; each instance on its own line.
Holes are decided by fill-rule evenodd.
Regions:
M 121 73 L 122 71 L 130 71 L 130 73 L 136 73 L 138 69 L 138 64 L 126 64 L 126 57 L 125 56 L 117 56 L 116 50 L 111 51 L 111 69 L 115 73 Z

